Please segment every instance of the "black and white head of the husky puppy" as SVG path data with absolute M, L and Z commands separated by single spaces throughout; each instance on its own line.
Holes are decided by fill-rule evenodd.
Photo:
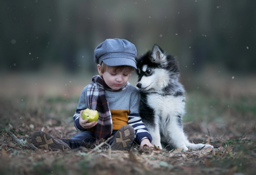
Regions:
M 178 63 L 175 58 L 164 52 L 158 45 L 136 58 L 138 83 L 142 91 L 161 91 L 179 77 Z

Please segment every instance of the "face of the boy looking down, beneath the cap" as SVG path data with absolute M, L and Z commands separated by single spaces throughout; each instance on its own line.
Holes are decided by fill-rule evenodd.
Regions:
M 100 69 L 101 66 L 98 64 L 98 72 L 100 76 L 103 77 L 105 83 L 112 90 L 121 89 L 126 84 L 131 74 L 131 70 L 129 69 L 114 72 L 114 70 L 111 67 L 109 67 L 103 74 L 100 72 Z

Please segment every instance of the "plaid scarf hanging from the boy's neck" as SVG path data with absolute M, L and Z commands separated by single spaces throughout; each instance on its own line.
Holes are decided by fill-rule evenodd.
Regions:
M 92 82 L 88 86 L 87 101 L 91 110 L 97 110 L 99 113 L 98 124 L 94 126 L 94 137 L 96 139 L 108 139 L 112 135 L 113 123 L 109 102 L 105 97 L 105 90 L 118 92 L 125 90 L 130 83 L 127 82 L 121 89 L 112 90 L 99 75 L 92 78 Z

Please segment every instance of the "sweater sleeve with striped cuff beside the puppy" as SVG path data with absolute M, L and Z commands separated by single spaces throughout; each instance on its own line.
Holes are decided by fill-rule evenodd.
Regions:
M 135 141 L 140 144 L 142 139 L 147 138 L 152 142 L 152 136 L 148 133 L 148 130 L 144 123 L 141 120 L 139 115 L 139 100 L 140 95 L 137 89 L 135 88 L 135 92 L 132 93 L 130 99 L 130 114 L 128 115 L 128 124 L 134 127 L 135 129 Z

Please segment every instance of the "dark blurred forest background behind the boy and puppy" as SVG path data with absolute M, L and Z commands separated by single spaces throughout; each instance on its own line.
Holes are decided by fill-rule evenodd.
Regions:
M 230 85 L 256 72 L 255 7 L 221 0 L 1 1 L 1 94 L 44 93 L 45 81 L 52 94 L 72 82 L 85 86 L 98 74 L 94 49 L 106 38 L 131 41 L 138 56 L 157 43 L 177 57 L 188 91 L 200 88 L 198 77 L 210 86 L 227 75 Z

